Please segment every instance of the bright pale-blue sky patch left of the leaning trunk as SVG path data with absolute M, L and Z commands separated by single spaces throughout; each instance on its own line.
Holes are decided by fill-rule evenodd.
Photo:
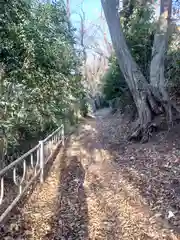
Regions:
M 101 0 L 69 0 L 70 16 L 73 26 L 77 29 L 77 36 L 80 36 L 80 16 L 81 9 L 85 13 L 85 45 L 91 49 L 98 49 L 98 52 L 107 54 L 107 46 L 104 41 L 104 32 L 109 42 L 110 35 L 106 20 L 101 18 Z M 83 2 L 83 3 L 82 3 Z M 81 4 L 82 3 L 82 4 Z M 87 50 L 89 61 L 93 59 L 94 50 Z

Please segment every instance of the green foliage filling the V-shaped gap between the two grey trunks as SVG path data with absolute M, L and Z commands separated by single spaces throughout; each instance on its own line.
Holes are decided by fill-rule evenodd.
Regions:
M 121 19 L 131 54 L 147 79 L 149 79 L 151 51 L 156 27 L 153 17 L 154 11 L 150 6 L 144 8 L 137 4 L 126 26 L 124 26 L 125 20 Z

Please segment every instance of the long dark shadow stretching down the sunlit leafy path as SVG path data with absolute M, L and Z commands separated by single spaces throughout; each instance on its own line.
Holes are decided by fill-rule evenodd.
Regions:
M 85 171 L 79 156 L 68 156 L 68 147 L 61 156 L 58 203 L 45 240 L 88 239 L 88 209 L 83 187 Z

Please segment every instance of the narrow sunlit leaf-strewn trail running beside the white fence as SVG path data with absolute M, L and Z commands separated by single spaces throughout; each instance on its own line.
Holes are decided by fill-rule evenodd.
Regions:
M 66 142 L 45 183 L 20 209 L 27 240 L 180 239 L 155 218 L 99 140 L 101 111 Z M 17 237 L 17 238 L 16 238 Z

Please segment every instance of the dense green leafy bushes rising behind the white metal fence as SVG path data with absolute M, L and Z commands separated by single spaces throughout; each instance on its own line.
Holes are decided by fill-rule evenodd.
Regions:
M 69 114 L 75 117 L 83 88 L 62 0 L 4 0 L 0 9 L 0 137 L 6 152 L 22 138 L 52 131 Z

